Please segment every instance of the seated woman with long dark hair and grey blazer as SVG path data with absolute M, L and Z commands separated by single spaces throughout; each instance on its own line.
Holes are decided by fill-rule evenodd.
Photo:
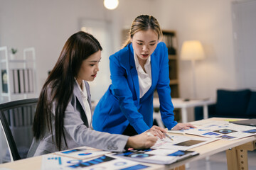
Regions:
M 65 42 L 39 96 L 28 157 L 82 146 L 122 151 L 154 145 L 157 138 L 146 133 L 128 137 L 91 129 L 87 81 L 93 81 L 99 71 L 101 50 L 100 43 L 82 31 Z

